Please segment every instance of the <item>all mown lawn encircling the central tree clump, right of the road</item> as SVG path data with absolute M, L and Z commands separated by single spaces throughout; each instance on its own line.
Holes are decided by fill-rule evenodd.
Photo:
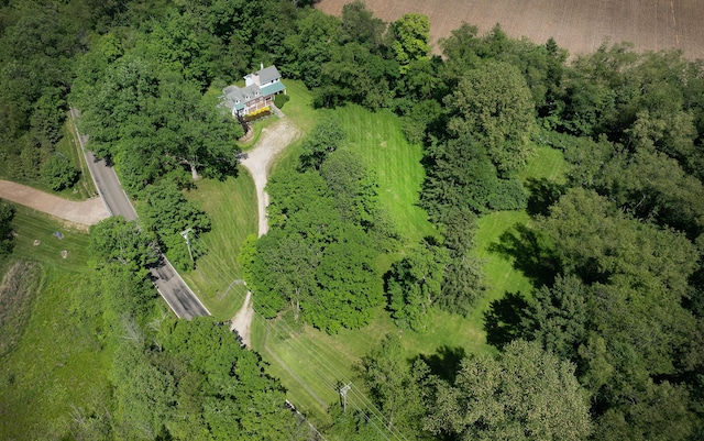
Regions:
M 340 120 L 348 135 L 345 148 L 360 153 L 378 178 L 380 200 L 388 210 L 406 244 L 411 244 L 435 229 L 426 213 L 416 206 L 424 180 L 420 164 L 422 150 L 406 142 L 399 120 L 389 112 L 370 112 L 359 106 L 345 106 L 333 110 L 316 110 L 310 106 L 311 95 L 299 81 L 287 81 L 292 100 L 284 112 L 301 131 L 306 132 L 316 119 L 331 114 Z M 276 169 L 296 166 L 300 143 L 289 146 L 274 166 Z M 524 179 L 560 179 L 564 173 L 564 161 L 558 151 L 538 148 L 526 168 Z M 240 278 L 237 253 L 246 236 L 245 231 L 255 231 L 256 207 L 251 180 L 230 179 L 226 183 L 200 183 L 189 198 L 200 200 L 213 219 L 213 231 L 206 235 L 209 256 L 201 260 L 199 268 L 186 276 L 191 287 L 205 293 L 201 296 L 211 311 L 221 318 L 230 318 L 241 305 L 244 289 L 233 285 Z M 235 181 L 239 184 L 234 184 Z M 245 181 L 248 184 L 245 184 Z M 246 196 L 251 195 L 251 196 Z M 243 220 L 242 218 L 250 220 Z M 251 223 L 250 223 L 251 222 Z M 338 383 L 355 381 L 355 366 L 381 339 L 388 333 L 400 333 L 406 355 L 413 360 L 419 355 L 430 356 L 438 352 L 482 353 L 493 351 L 486 344 L 484 312 L 492 300 L 502 298 L 506 291 L 529 294 L 530 280 L 514 268 L 512 258 L 492 251 L 492 244 L 517 224 L 530 222 L 526 212 L 499 212 L 480 221 L 476 234 L 476 255 L 484 260 L 484 271 L 491 284 L 470 317 L 441 311 L 431 312 L 430 331 L 416 333 L 399 331 L 387 311 L 378 309 L 367 327 L 337 335 L 328 335 L 312 328 L 293 332 L 283 321 L 265 321 L 256 316 L 252 324 L 252 345 L 270 363 L 268 372 L 280 378 L 288 389 L 289 399 L 315 421 L 326 422 L 326 408 L 338 400 Z M 233 225 L 238 225 L 234 228 Z M 380 265 L 383 273 L 398 255 L 386 256 Z M 221 268 L 228 268 L 223 272 Z M 226 294 L 227 293 L 227 294 Z M 224 296 L 223 296 L 224 294 Z M 223 297 L 222 299 L 220 297 Z M 293 335 L 293 337 L 292 337 Z M 360 385 L 361 382 L 355 382 Z M 361 400 L 359 396 L 351 400 Z

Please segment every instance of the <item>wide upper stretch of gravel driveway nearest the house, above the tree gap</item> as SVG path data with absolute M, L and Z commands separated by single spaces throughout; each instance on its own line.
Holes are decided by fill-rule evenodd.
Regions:
M 260 236 L 268 231 L 266 220 L 266 207 L 268 195 L 264 191 L 268 170 L 276 156 L 286 148 L 296 137 L 298 129 L 287 118 L 282 118 L 275 124 L 262 130 L 256 147 L 243 155 L 241 164 L 250 172 L 256 187 L 256 200 L 260 213 Z

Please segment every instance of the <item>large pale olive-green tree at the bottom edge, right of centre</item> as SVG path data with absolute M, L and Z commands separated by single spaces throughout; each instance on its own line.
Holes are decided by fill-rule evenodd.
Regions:
M 593 428 L 574 365 L 537 343 L 462 361 L 452 384 L 438 379 L 427 430 L 458 440 L 585 440 Z

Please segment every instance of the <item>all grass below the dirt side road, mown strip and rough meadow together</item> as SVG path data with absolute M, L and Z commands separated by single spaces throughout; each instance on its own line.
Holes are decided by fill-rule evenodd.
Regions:
M 90 295 L 87 234 L 16 208 L 10 261 L 40 262 L 43 275 L 20 341 L 0 359 L 0 439 L 58 439 L 74 408 L 107 401 L 111 353 L 72 312 L 73 296 Z M 52 235 L 56 230 L 63 240 Z M 40 245 L 33 245 L 35 239 Z M 68 258 L 61 257 L 62 250 Z

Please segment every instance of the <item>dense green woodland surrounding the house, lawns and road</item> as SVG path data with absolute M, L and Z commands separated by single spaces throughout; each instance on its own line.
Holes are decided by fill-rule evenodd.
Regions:
M 72 313 L 112 348 L 110 387 L 64 439 L 704 439 L 704 64 L 628 44 L 568 60 L 553 40 L 469 24 L 435 55 L 424 15 L 385 23 L 360 1 L 340 18 L 309 3 L 0 2 L 7 174 L 73 186 L 56 145 L 75 107 L 140 211 L 140 224 L 91 229 L 89 289 Z M 492 284 L 477 221 L 531 217 L 493 245 L 534 289 L 484 312 L 492 352 L 437 370 L 389 334 L 355 367 L 384 427 L 332 405 L 314 428 L 227 327 L 156 306 L 157 250 L 189 269 L 179 232 L 211 227 L 184 191 L 238 174 L 243 129 L 220 90 L 260 64 L 301 80 L 317 108 L 399 118 L 424 146 L 418 205 L 435 227 L 409 243 L 322 112 L 268 183 L 270 232 L 242 246 L 262 317 L 336 334 L 384 309 L 399 330 L 428 332 L 431 310 L 468 316 Z M 521 177 L 538 146 L 564 157 L 564 184 Z M 6 262 L 13 216 L 0 205 Z M 194 240 L 196 262 L 206 252 Z

